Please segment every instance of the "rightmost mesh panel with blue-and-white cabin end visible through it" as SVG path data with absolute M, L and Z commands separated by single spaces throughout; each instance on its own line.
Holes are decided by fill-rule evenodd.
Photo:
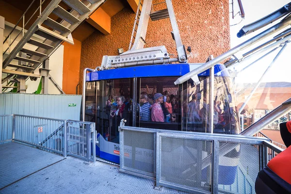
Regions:
M 259 173 L 259 146 L 219 142 L 220 151 L 229 146 L 230 151 L 219 155 L 219 193 L 255 194 L 255 181 Z

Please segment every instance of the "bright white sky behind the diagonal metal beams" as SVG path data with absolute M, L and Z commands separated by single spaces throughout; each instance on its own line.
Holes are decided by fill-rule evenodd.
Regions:
M 239 11 L 239 6 L 237 4 L 237 0 L 234 1 L 234 13 L 237 13 Z M 269 24 L 268 26 L 264 27 L 263 29 L 260 29 L 256 32 L 250 33 L 248 35 L 245 35 L 241 38 L 237 37 L 237 32 L 244 26 L 249 23 L 252 23 L 264 16 L 267 16 L 271 14 L 272 12 L 278 10 L 279 8 L 283 7 L 284 5 L 288 4 L 291 0 L 242 0 L 242 6 L 245 12 L 245 17 L 242 20 L 240 16 L 236 16 L 234 19 L 232 19 L 232 15 L 230 16 L 230 25 L 234 25 L 239 23 L 241 20 L 242 22 L 230 26 L 230 42 L 231 42 L 231 48 L 239 45 L 240 43 L 250 39 L 251 37 L 255 36 L 259 32 L 262 32 L 263 30 L 266 30 L 273 26 L 273 24 Z M 231 0 L 230 0 L 231 2 Z M 229 11 L 231 11 L 231 6 L 229 7 Z M 281 18 L 282 19 L 282 18 Z M 289 26 L 290 27 L 290 26 Z M 288 27 L 288 28 L 289 28 Z M 286 28 L 287 29 L 287 28 Z M 277 34 L 277 33 L 275 33 Z M 274 34 L 274 35 L 275 35 Z M 273 35 L 273 36 L 274 36 Z M 270 38 L 272 38 L 271 36 Z M 269 38 L 269 39 L 270 39 Z M 267 39 L 263 40 L 262 42 L 259 42 L 259 44 L 253 46 L 252 48 L 255 48 L 256 46 L 262 44 L 263 42 L 267 41 Z M 245 49 L 242 51 L 242 53 L 245 53 L 246 51 L 250 50 Z M 261 75 L 264 73 L 266 68 L 270 65 L 270 63 L 275 58 L 275 55 L 278 53 L 279 49 L 277 51 L 273 52 L 272 54 L 268 55 L 268 57 L 264 58 L 263 60 L 260 60 L 256 64 L 252 65 L 247 70 L 242 71 L 237 75 L 236 81 L 237 82 L 247 82 L 247 83 L 253 83 L 259 81 Z M 263 77 L 262 82 L 276 82 L 276 81 L 287 81 L 291 82 L 291 61 L 289 60 L 289 55 L 291 53 L 291 43 L 287 45 L 287 48 L 284 50 L 284 52 L 281 54 L 281 56 L 276 60 L 276 63 L 272 65 L 270 71 L 265 74 Z M 252 61 L 256 60 L 256 58 L 252 58 L 252 60 L 248 62 L 244 62 L 241 64 L 238 64 L 235 69 L 239 71 L 246 65 L 250 64 Z

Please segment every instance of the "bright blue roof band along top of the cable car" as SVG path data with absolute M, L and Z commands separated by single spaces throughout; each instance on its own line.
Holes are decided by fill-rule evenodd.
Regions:
M 123 78 L 145 78 L 183 76 L 203 64 L 165 64 L 130 66 L 115 69 L 107 69 L 88 73 L 86 81 L 111 80 Z M 222 64 L 214 66 L 215 76 L 229 77 L 226 67 Z M 209 76 L 209 69 L 200 73 L 199 77 Z

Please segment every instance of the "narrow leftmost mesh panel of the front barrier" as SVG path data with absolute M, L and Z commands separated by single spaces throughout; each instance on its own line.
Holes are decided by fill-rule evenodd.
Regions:
M 124 130 L 124 167 L 154 174 L 154 133 Z

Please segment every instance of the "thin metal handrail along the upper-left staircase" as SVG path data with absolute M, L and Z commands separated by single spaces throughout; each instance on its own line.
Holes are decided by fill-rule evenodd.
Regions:
M 46 1 L 46 0 L 40 0 L 40 5 L 38 6 L 38 8 L 34 11 L 34 13 L 32 14 L 32 16 L 27 20 L 27 22 L 25 23 L 25 14 L 27 13 L 27 11 L 31 8 L 32 4 L 34 3 L 35 0 L 32 1 L 32 3 L 28 6 L 28 8 L 26 9 L 26 11 L 23 13 L 23 15 L 20 17 L 20 19 L 18 20 L 18 22 L 16 23 L 16 25 L 14 26 L 14 28 L 12 29 L 12 31 L 8 34 L 8 36 L 5 38 L 5 40 L 3 41 L 3 44 L 7 41 L 8 39 L 8 48 L 3 52 L 2 55 L 4 55 L 6 53 L 6 51 L 8 50 L 8 54 L 10 54 L 10 47 L 11 45 L 15 42 L 16 38 L 19 36 L 19 34 L 22 32 L 22 36 L 24 36 L 24 28 L 25 26 L 30 22 L 30 20 L 32 19 L 32 17 L 35 15 L 35 13 L 39 10 L 39 16 L 41 15 L 41 7 L 42 4 Z M 22 30 L 16 35 L 16 37 L 13 39 L 13 41 L 11 42 L 11 34 L 12 32 L 14 32 L 14 30 L 16 29 L 16 27 L 18 26 L 18 24 L 20 23 L 20 21 L 22 20 Z

